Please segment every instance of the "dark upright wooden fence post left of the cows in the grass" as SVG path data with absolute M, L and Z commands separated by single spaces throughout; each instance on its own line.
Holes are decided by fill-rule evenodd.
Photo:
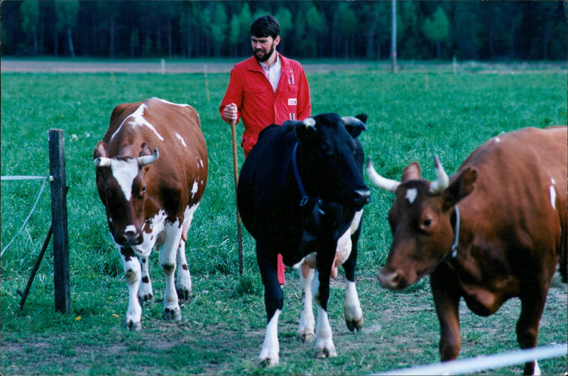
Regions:
M 71 308 L 69 284 L 69 238 L 67 236 L 67 192 L 65 186 L 65 141 L 62 129 L 49 130 L 51 221 L 53 227 L 53 282 L 55 311 Z

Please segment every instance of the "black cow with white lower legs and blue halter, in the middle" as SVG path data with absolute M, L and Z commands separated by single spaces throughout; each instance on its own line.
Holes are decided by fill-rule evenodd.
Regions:
M 320 114 L 303 122 L 272 124 L 261 131 L 241 168 L 239 212 L 256 240 L 268 314 L 261 365 L 279 361 L 283 291 L 276 272 L 278 253 L 284 264 L 301 270 L 304 306 L 297 334 L 302 341 L 315 336 L 318 358 L 337 355 L 327 300 L 329 277 L 337 274 L 339 264 L 347 279 L 347 327 L 359 331 L 363 325 L 354 269 L 361 213 L 370 198 L 363 180 L 363 148 L 357 139 L 366 130 L 366 119 L 364 114 L 343 118 Z M 317 305 L 316 331 L 312 296 Z

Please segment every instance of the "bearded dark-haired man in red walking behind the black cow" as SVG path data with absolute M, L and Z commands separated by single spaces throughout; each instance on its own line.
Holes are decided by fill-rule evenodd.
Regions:
M 270 124 L 310 117 L 310 87 L 302 65 L 276 51 L 280 43 L 280 24 L 273 16 L 261 16 L 251 25 L 254 56 L 237 63 L 231 70 L 229 87 L 219 106 L 225 122 L 242 119 L 241 146 L 244 156 Z M 284 264 L 278 255 L 278 281 L 285 283 Z

